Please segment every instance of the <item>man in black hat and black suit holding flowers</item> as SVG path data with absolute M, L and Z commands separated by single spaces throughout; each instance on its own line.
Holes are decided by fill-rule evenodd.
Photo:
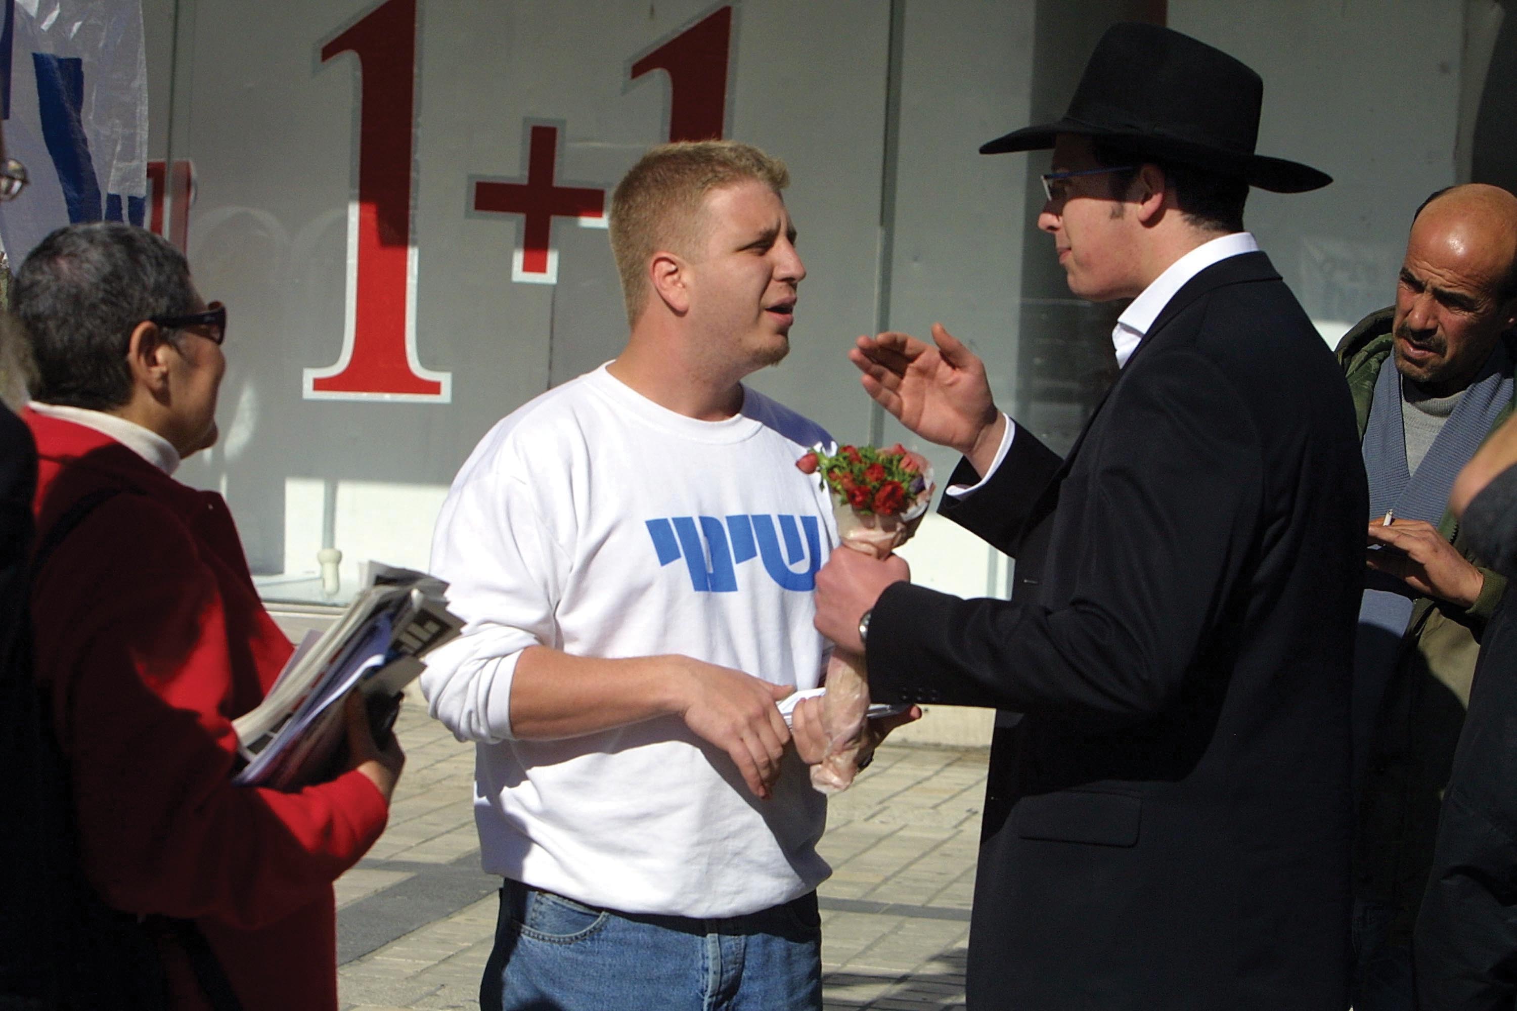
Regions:
M 818 628 L 874 697 L 1003 709 L 971 1008 L 1338 1011 L 1349 964 L 1349 673 L 1367 493 L 1353 405 L 1253 236 L 1262 85 L 1167 29 L 1098 44 L 1038 218 L 1069 288 L 1133 299 L 1121 373 L 1065 459 L 941 326 L 860 338 L 865 390 L 965 455 L 942 511 L 1016 558 L 1012 600 L 834 552 Z

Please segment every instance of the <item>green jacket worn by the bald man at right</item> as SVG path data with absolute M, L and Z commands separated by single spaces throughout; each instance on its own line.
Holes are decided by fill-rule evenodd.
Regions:
M 1393 314 L 1394 309 L 1371 312 L 1338 344 L 1361 440 L 1376 379 L 1391 358 Z M 1508 333 L 1502 340 L 1509 341 L 1517 355 L 1517 336 Z M 1497 426 L 1512 406 L 1502 408 Z M 1438 529 L 1481 570 L 1485 584 L 1468 609 L 1432 597 L 1420 597 L 1412 606 L 1400 661 L 1380 706 L 1355 826 L 1356 894 L 1393 905 L 1396 916 L 1388 940 L 1399 944 L 1411 943 L 1412 922 L 1432 867 L 1438 808 L 1470 703 L 1481 637 L 1506 591 L 1506 577 L 1479 565 L 1447 509 Z

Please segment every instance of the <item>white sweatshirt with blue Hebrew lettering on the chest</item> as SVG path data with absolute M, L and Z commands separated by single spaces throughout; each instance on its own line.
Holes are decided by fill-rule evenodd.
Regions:
M 428 656 L 431 712 L 478 741 L 484 867 L 622 912 L 722 917 L 787 902 L 830 869 L 806 765 L 769 800 L 678 717 L 557 741 L 511 734 L 534 644 L 576 656 L 684 653 L 812 688 L 825 640 L 813 574 L 831 508 L 795 459 L 827 434 L 745 388 L 725 421 L 667 411 L 602 365 L 514 411 L 443 505 L 432 571 L 464 635 Z

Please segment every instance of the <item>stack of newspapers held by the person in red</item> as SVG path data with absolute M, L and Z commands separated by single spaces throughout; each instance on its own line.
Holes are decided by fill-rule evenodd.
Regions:
M 247 762 L 232 782 L 294 790 L 329 778 L 349 693 L 361 691 L 372 714 L 390 709 L 422 673 L 420 658 L 463 629 L 441 579 L 369 562 L 364 584 L 332 628 L 306 635 L 262 703 L 232 721 Z

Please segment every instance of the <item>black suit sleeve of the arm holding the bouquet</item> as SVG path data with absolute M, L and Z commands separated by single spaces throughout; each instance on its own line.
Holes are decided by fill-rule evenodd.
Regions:
M 1247 570 L 1264 477 L 1258 432 L 1208 359 L 1170 352 L 1142 367 L 1139 382 L 1112 393 L 1100 437 L 1085 441 L 1057 490 L 1059 553 L 1048 564 L 1074 567 L 1056 574 L 1073 588 L 1060 594 L 1068 602 L 887 588 L 869 624 L 877 699 L 1100 728 L 1173 702 Z M 1019 512 L 1029 491 L 1009 494 Z M 989 502 L 977 509 L 978 526 L 994 523 Z

